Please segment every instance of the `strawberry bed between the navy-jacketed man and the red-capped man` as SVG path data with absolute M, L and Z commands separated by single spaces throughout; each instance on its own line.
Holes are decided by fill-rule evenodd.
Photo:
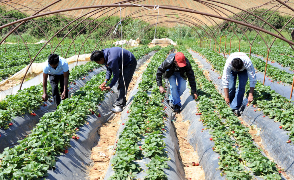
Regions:
M 184 179 L 178 159 L 174 118 L 154 75 L 173 46 L 156 53 L 137 82 L 122 113 L 122 123 L 104 179 Z M 137 89 L 137 88 L 138 89 Z M 168 87 L 166 87 L 168 88 Z M 130 105 L 131 104 L 131 105 Z

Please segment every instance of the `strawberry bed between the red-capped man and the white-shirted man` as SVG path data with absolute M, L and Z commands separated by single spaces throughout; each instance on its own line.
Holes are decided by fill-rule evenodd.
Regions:
M 193 119 L 193 121 L 190 121 L 188 130 L 189 142 L 196 149 L 202 148 L 199 147 L 199 144 L 196 144 L 197 141 L 203 141 L 201 144 L 204 145 L 204 148 L 209 148 L 211 146 L 209 142 L 213 141 L 214 144 L 211 149 L 200 150 L 203 154 L 198 152 L 198 156 L 203 161 L 201 164 L 205 173 L 207 172 L 206 168 L 211 168 L 209 166 L 215 167 L 216 165 L 213 163 L 217 163 L 217 161 L 218 169 L 222 171 L 220 174 L 215 170 L 213 170 L 215 172 L 209 172 L 207 179 L 218 179 L 219 175 L 225 176 L 226 179 L 281 179 L 275 163 L 270 161 L 262 153 L 262 150 L 256 146 L 249 133 L 249 128 L 244 126 L 225 104 L 221 94 L 218 93 L 214 84 L 206 79 L 201 69 L 193 61 L 191 54 L 183 46 L 180 46 L 178 51 L 183 52 L 190 59 L 198 86 L 198 99 L 196 101 L 199 104 L 194 108 L 196 109 L 195 115 L 200 116 L 200 121 L 193 119 L 194 115 L 192 116 L 191 113 L 194 113 L 195 109 L 194 111 L 183 110 L 183 114 L 186 114 L 184 117 Z M 186 97 L 187 95 L 183 96 L 183 98 Z M 200 125 L 197 122 L 203 123 L 203 130 L 199 129 Z M 210 137 L 206 131 L 211 134 Z M 201 136 L 207 139 L 199 140 L 198 134 L 203 132 L 206 132 L 206 134 Z M 218 154 L 218 157 L 215 156 L 213 151 Z M 207 153 L 211 153 L 209 155 L 213 158 L 208 162 L 205 158 L 202 158 L 203 156 L 208 157 Z

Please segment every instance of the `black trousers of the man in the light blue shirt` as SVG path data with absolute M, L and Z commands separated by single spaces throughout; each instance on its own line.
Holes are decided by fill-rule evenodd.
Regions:
M 58 91 L 58 84 L 60 84 L 60 93 L 62 94 L 64 91 L 64 75 L 63 74 L 52 74 L 48 73 L 51 88 L 52 88 L 52 96 L 56 107 L 60 104 L 61 98 Z M 69 97 L 69 92 L 66 91 L 65 99 Z

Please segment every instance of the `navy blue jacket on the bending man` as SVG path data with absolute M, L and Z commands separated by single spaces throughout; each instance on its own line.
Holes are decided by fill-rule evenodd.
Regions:
M 106 76 L 105 79 L 110 79 L 111 74 L 113 73 L 113 78 L 109 84 L 109 87 L 112 88 L 118 78 L 119 73 L 123 67 L 127 66 L 128 64 L 132 63 L 136 58 L 135 56 L 128 50 L 123 49 L 123 57 L 122 57 L 122 48 L 121 47 L 112 47 L 112 48 L 106 48 L 102 49 L 104 52 L 104 59 L 105 59 L 105 66 L 106 64 Z

